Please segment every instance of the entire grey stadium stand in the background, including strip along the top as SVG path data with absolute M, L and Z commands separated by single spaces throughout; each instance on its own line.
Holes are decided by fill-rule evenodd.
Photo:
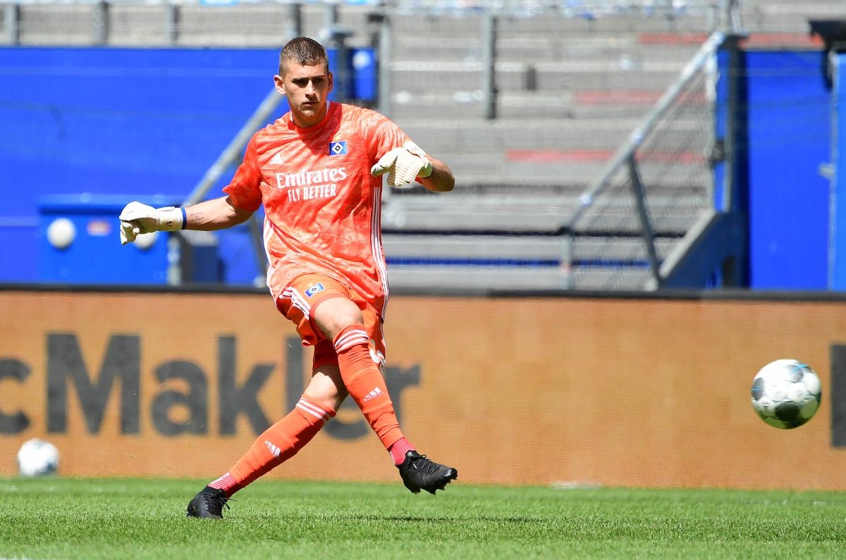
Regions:
M 349 45 L 381 39 L 390 95 L 377 108 L 457 178 L 447 197 L 387 193 L 394 287 L 641 289 L 649 255 L 626 185 L 608 189 L 618 201 L 581 226 L 571 221 L 709 33 L 728 25 L 722 4 L 497 3 L 496 118 L 484 87 L 487 3 L 14 3 L 3 29 L 7 42 L 29 45 L 281 45 L 296 33 L 325 40 L 332 26 Z M 815 48 L 807 20 L 840 16 L 841 4 L 744 0 L 739 14 L 748 41 Z M 667 117 L 639 154 L 659 261 L 713 207 L 708 103 L 690 96 L 695 116 Z

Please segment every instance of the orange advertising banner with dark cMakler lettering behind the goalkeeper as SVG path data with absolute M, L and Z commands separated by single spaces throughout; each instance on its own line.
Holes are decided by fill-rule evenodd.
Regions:
M 61 475 L 211 480 L 310 372 L 267 294 L 6 289 L 0 332 L 0 475 L 38 437 Z M 400 424 L 459 481 L 846 489 L 846 299 L 395 296 L 385 332 Z M 779 358 L 823 385 L 792 431 L 750 405 Z M 267 476 L 398 480 L 351 401 Z

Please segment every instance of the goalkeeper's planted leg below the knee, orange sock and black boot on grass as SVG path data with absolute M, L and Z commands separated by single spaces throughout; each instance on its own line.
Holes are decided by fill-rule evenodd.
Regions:
M 222 518 L 229 497 L 294 457 L 335 415 L 346 396 L 338 366 L 318 367 L 294 409 L 267 428 L 225 475 L 203 488 L 188 504 L 187 515 Z

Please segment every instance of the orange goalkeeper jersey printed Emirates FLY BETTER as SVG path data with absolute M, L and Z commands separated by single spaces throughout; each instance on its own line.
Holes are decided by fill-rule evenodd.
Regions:
M 253 135 L 223 191 L 245 210 L 264 205 L 267 286 L 275 299 L 295 277 L 320 272 L 384 316 L 382 178 L 370 172 L 406 140 L 381 114 L 334 102 L 320 124 L 300 129 L 287 113 Z

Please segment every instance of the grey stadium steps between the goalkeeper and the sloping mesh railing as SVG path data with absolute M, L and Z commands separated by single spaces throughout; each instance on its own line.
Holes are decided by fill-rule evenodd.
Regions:
M 405 29 L 403 19 L 393 21 Z M 425 288 L 440 278 L 453 287 L 642 289 L 651 273 L 629 193 L 620 206 L 585 212 L 580 224 L 588 225 L 577 228 L 569 244 L 572 269 L 561 261 L 564 238 L 553 233 L 569 223 L 580 193 L 699 49 L 708 22 L 502 18 L 493 121 L 484 118 L 481 96 L 481 26 L 481 18 L 418 19 L 413 30 L 393 35 L 390 114 L 426 151 L 449 163 L 456 190 L 442 206 L 402 195 L 387 201 L 383 227 L 386 254 L 396 257 L 389 268 L 392 282 Z M 684 145 L 697 126 L 673 123 L 662 145 Z M 689 165 L 689 172 L 677 167 L 673 179 L 662 174 L 665 162 L 640 162 L 659 260 L 711 205 L 703 195 L 708 185 L 679 186 L 678 177 L 697 177 L 701 154 L 689 157 Z M 558 185 L 558 194 L 521 196 L 543 185 Z M 475 196 L 464 197 L 464 189 Z M 420 235 L 438 231 L 456 235 L 456 242 Z M 474 253 L 474 245 L 484 249 Z M 415 261 L 415 255 L 425 256 Z M 451 265 L 437 265 L 438 255 Z M 476 266 L 463 264 L 474 258 Z M 497 259 L 499 266 L 486 264 Z

